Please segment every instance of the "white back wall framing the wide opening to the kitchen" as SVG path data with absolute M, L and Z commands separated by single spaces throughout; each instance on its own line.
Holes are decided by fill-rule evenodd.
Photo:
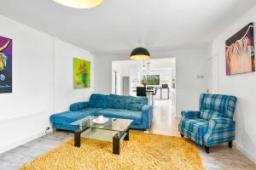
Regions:
M 149 49 L 150 51 L 150 49 Z M 152 53 L 152 59 L 176 58 L 177 77 L 177 115 L 183 110 L 198 110 L 198 100 L 201 93 L 206 92 L 204 79 L 197 79 L 198 75 L 205 75 L 205 48 L 173 50 L 162 54 Z M 112 61 L 127 60 L 128 55 L 97 55 L 95 58 L 95 91 L 96 93 L 111 93 Z

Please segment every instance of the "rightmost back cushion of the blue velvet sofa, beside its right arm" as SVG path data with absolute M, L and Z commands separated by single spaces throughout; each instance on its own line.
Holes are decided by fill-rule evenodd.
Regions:
M 147 97 L 126 97 L 126 109 L 130 111 L 142 111 L 143 106 L 148 105 Z

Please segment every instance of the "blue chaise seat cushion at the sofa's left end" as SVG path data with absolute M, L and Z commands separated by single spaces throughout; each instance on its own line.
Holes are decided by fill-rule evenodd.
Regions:
M 62 113 L 56 113 L 50 116 L 50 122 L 55 122 L 59 124 L 69 124 L 76 122 L 85 116 L 94 116 L 96 111 L 102 110 L 101 108 L 90 108 L 87 107 L 80 111 L 65 111 Z

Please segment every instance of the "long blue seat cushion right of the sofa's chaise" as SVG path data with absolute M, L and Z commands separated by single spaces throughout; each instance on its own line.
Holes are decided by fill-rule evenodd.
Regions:
M 103 115 L 106 117 L 114 117 L 121 119 L 131 119 L 133 124 L 140 124 L 143 121 L 141 111 L 128 111 L 119 109 L 104 109 L 96 112 L 96 116 Z

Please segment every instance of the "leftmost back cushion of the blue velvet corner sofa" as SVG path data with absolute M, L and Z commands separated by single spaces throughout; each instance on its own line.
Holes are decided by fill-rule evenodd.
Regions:
M 91 94 L 89 99 L 89 106 L 96 107 L 96 108 L 106 108 L 107 99 L 108 99 L 108 95 Z

